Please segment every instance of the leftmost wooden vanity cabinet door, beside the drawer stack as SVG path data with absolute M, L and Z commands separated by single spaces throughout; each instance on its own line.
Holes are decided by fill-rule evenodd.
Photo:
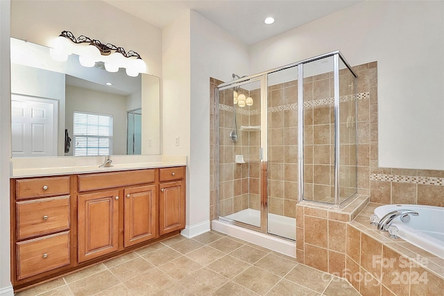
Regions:
M 119 248 L 119 191 L 78 195 L 78 261 Z

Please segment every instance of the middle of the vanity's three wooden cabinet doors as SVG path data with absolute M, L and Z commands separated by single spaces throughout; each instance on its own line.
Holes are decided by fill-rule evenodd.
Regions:
M 125 189 L 124 247 L 157 236 L 155 185 Z

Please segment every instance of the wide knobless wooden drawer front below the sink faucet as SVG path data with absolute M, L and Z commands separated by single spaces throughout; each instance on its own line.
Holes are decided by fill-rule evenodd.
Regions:
M 78 176 L 78 192 L 155 182 L 155 169 Z

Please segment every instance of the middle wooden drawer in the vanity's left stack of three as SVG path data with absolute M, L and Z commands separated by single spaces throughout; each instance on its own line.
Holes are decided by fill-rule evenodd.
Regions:
M 69 195 L 17 202 L 17 239 L 69 229 Z

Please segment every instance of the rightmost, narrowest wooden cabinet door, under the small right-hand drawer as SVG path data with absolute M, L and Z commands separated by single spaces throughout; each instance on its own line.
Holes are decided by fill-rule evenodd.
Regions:
M 185 190 L 183 181 L 160 184 L 159 234 L 185 228 Z

